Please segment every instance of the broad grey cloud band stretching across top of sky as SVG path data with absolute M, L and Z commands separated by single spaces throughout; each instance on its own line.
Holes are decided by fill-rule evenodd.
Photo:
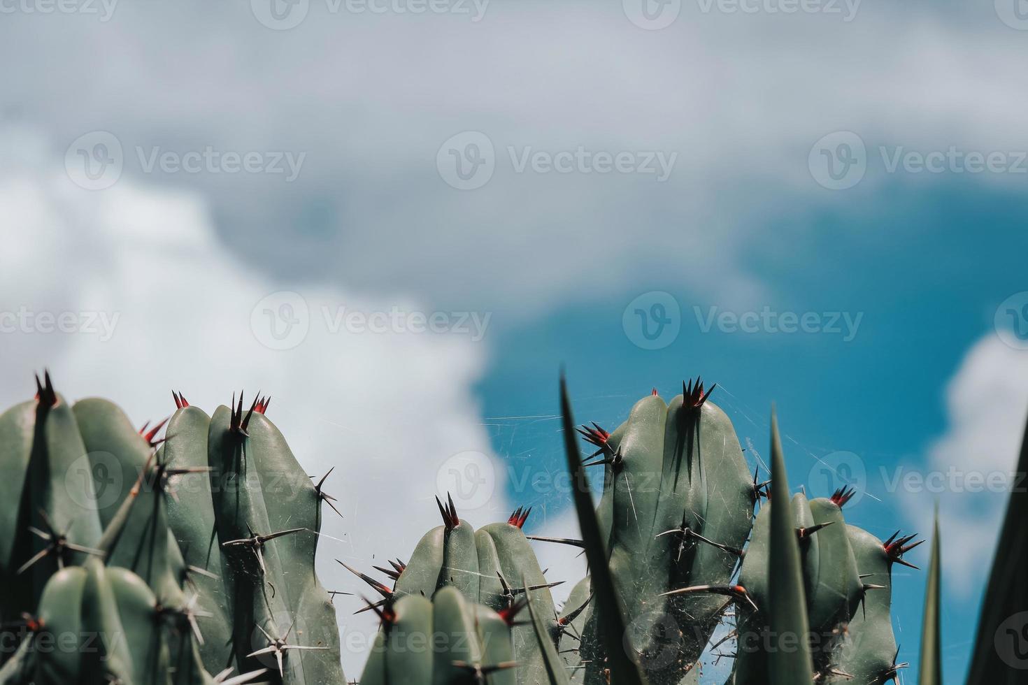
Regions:
M 1028 148 L 1023 36 L 991 2 L 932 11 L 864 3 L 851 22 L 683 3 L 655 32 L 633 26 L 618 2 L 497 0 L 477 23 L 309 4 L 291 31 L 261 26 L 247 2 L 121 3 L 106 24 L 9 15 L 0 58 L 20 68 L 5 94 L 62 143 L 91 129 L 117 135 L 126 179 L 141 173 L 137 145 L 306 151 L 293 184 L 161 180 L 204 187 L 241 254 L 282 273 L 511 313 L 661 276 L 725 306 L 751 301 L 764 284 L 746 253 L 766 239 L 767 216 L 824 202 L 859 211 L 868 205 L 855 198 L 883 182 L 1021 178 L 885 178 L 879 145 Z M 441 143 L 466 129 L 490 137 L 498 163 L 485 187 L 462 192 L 435 162 Z M 808 152 L 846 129 L 864 137 L 872 168 L 856 189 L 828 191 L 811 179 Z M 516 174 L 507 152 L 579 145 L 678 158 L 658 184 Z M 776 230 L 790 246 L 800 237 Z

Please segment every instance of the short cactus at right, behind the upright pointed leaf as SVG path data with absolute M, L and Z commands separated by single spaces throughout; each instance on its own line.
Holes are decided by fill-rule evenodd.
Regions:
M 778 464 L 782 462 L 781 446 L 773 420 L 772 435 L 772 458 Z M 782 477 L 775 473 L 772 487 L 773 501 L 766 503 L 757 518 L 735 588 L 740 646 L 734 683 L 766 682 L 769 672 L 776 673 L 776 657 L 799 651 L 788 649 L 786 639 L 802 648 L 809 647 L 807 671 L 814 682 L 855 679 L 884 683 L 893 679 L 905 664 L 894 660 L 888 612 L 889 572 L 893 563 L 907 563 L 903 554 L 919 543 L 911 543 L 911 536 L 883 544 L 865 531 L 847 526 L 842 507 L 852 497 L 851 490 L 809 501 L 798 494 L 790 501 Z M 799 566 L 784 577 L 800 580 L 802 594 L 784 603 L 782 580 L 774 576 L 780 564 L 774 561 L 775 551 L 785 546 L 784 538 L 779 535 L 776 541 L 774 535 L 778 501 L 788 505 L 788 537 L 798 542 L 799 548 Z M 774 623 L 776 606 L 783 604 L 802 614 L 787 631 Z M 772 682 L 800 682 L 796 679 L 802 671 L 800 664 L 791 663 L 777 673 L 779 680 Z

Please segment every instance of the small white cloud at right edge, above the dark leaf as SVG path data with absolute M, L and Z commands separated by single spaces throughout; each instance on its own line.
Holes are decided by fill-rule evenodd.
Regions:
M 928 450 L 925 487 L 902 501 L 917 529 L 930 531 L 939 499 L 947 586 L 966 594 L 988 568 L 1006 510 L 1008 494 L 990 488 L 988 479 L 1008 477 L 1017 466 L 1028 413 L 1028 355 L 995 335 L 982 338 L 947 386 L 946 408 L 948 428 Z

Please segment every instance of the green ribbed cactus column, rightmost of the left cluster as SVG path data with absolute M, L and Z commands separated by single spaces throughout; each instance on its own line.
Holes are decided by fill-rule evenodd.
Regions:
M 343 682 L 331 598 L 315 573 L 322 498 L 279 429 L 242 393 L 219 407 L 208 432 L 208 462 L 223 581 L 231 593 L 233 650 L 241 671 L 269 668 L 284 683 Z M 207 535 L 189 544 L 206 545 Z M 303 625 L 303 645 L 251 656 L 259 630 Z M 263 660 L 261 660 L 263 659 Z

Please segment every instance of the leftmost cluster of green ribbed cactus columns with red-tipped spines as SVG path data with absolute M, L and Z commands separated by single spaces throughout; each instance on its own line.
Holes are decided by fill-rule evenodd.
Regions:
M 314 571 L 323 484 L 267 399 L 213 419 L 175 399 L 163 440 L 166 422 L 137 432 L 109 402 L 70 405 L 48 373 L 0 415 L 0 616 L 19 644 L 3 685 L 345 682 Z

